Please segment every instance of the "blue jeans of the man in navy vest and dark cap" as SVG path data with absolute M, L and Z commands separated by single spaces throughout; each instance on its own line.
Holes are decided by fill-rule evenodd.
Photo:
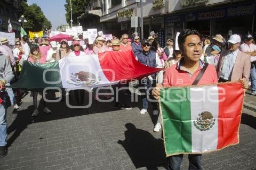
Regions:
M 141 95 L 141 100 L 142 100 L 142 109 L 146 109 L 148 110 L 148 100 L 149 99 L 154 99 L 151 95 L 151 91 L 152 88 L 151 87 L 155 87 L 156 85 L 156 80 L 150 80 L 148 77 L 146 77 L 145 79 L 140 80 L 140 87 L 143 87 L 142 89 L 140 89 L 140 92 L 143 93 Z M 149 89 L 151 88 L 151 89 Z M 157 110 L 157 101 L 156 102 L 152 102 L 153 105 L 153 110 Z

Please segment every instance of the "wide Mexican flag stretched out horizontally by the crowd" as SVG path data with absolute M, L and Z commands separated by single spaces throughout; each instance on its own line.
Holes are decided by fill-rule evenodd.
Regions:
M 107 51 L 98 55 L 66 57 L 48 64 L 24 61 L 20 79 L 11 87 L 102 87 L 124 80 L 143 78 L 160 70 L 162 68 L 151 68 L 139 63 L 132 51 Z

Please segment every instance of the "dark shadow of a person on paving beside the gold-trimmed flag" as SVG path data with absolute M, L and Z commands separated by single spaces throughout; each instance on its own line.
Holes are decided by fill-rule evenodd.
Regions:
M 149 132 L 137 129 L 132 123 L 126 123 L 125 140 L 118 141 L 130 156 L 136 168 L 158 169 L 165 165 L 164 142 Z

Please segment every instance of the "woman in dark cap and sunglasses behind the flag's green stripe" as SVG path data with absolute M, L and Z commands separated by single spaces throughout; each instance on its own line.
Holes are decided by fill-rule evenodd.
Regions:
M 31 53 L 28 58 L 28 61 L 34 62 L 34 63 L 40 63 L 40 64 L 46 63 L 46 58 L 44 58 L 42 56 L 42 53 L 40 52 L 39 47 L 37 45 L 31 46 Z M 41 91 L 31 91 L 31 93 L 33 95 L 33 105 L 34 105 L 34 111 L 31 116 L 36 117 L 39 114 L 38 105 L 37 105 L 37 96 L 38 96 L 38 93 L 42 93 L 42 92 Z M 43 99 L 42 99 L 42 101 L 43 101 L 43 107 L 44 107 L 43 111 L 46 114 L 50 114 L 51 110 L 48 107 L 46 107 L 46 102 Z

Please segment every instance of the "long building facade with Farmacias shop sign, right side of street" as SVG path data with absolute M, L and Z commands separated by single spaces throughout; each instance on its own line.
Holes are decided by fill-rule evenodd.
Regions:
M 105 0 L 100 22 L 106 34 L 135 32 L 140 0 Z M 146 0 L 143 6 L 144 37 L 154 31 L 159 41 L 175 38 L 186 28 L 204 35 L 246 34 L 255 31 L 255 0 Z M 137 32 L 140 33 L 138 20 Z

